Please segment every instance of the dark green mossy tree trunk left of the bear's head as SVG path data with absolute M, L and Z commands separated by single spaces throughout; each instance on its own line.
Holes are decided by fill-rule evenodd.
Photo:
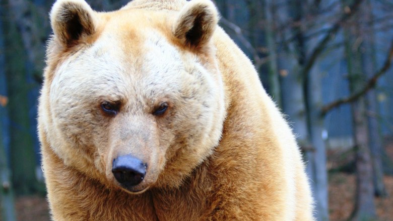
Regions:
M 6 30 L 6 53 L 7 53 L 7 83 L 9 92 L 9 116 L 11 119 L 11 168 L 13 171 L 12 181 L 15 191 L 20 194 L 28 194 L 36 190 L 35 178 L 35 151 L 33 148 L 33 136 L 29 118 L 28 93 L 31 84 L 27 81 L 25 48 L 16 21 L 11 17 L 10 2 L 6 1 L 7 18 Z

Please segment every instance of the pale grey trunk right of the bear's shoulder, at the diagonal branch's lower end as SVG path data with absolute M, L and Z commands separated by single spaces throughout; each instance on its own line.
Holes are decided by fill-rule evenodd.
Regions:
M 319 13 L 319 4 L 313 1 L 304 1 L 302 10 L 309 13 L 309 15 Z M 306 21 L 303 21 L 305 23 Z M 306 26 L 306 24 L 304 25 Z M 312 33 L 312 28 L 306 29 L 305 35 Z M 327 34 L 328 35 L 328 34 Z M 320 36 L 320 38 L 326 38 L 326 36 Z M 330 41 L 330 38 L 329 38 Z M 317 38 L 310 38 L 304 43 L 304 51 L 306 54 L 305 64 L 302 66 L 301 75 L 303 76 L 304 87 L 305 87 L 305 105 L 307 110 L 307 124 L 308 133 L 313 152 L 314 162 L 314 182 L 315 189 L 314 195 L 316 202 L 317 220 L 327 221 L 329 220 L 329 182 L 328 182 L 328 171 L 326 169 L 326 145 L 322 138 L 322 133 L 325 131 L 323 125 L 323 117 L 320 113 L 323 101 L 322 101 L 322 82 L 321 74 L 319 70 L 317 58 L 319 55 L 315 53 L 317 47 L 321 46 L 320 42 L 317 42 Z M 327 44 L 327 43 L 326 43 Z M 321 48 L 324 50 L 326 45 Z M 316 57 L 315 57 L 316 56 Z

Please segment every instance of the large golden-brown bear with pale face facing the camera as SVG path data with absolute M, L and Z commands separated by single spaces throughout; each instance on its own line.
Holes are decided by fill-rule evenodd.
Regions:
M 208 0 L 58 0 L 39 104 L 53 220 L 312 220 L 294 135 Z

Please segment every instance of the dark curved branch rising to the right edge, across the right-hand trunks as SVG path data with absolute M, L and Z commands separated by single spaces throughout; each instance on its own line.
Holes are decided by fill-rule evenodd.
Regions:
M 336 108 L 344 103 L 349 103 L 357 100 L 359 97 L 363 96 L 364 94 L 367 93 L 370 89 L 374 88 L 377 80 L 379 79 L 380 76 L 382 76 L 386 71 L 390 68 L 391 66 L 391 61 L 393 59 L 393 40 L 391 41 L 390 49 L 389 52 L 386 56 L 385 63 L 383 64 L 382 68 L 379 69 L 366 83 L 366 85 L 363 87 L 363 89 L 359 90 L 356 93 L 353 93 L 352 95 L 348 97 L 344 97 L 341 99 L 338 99 L 336 101 L 333 101 L 327 105 L 324 105 L 321 108 L 321 115 L 324 116 L 326 115 L 329 111 L 331 111 L 333 108 Z

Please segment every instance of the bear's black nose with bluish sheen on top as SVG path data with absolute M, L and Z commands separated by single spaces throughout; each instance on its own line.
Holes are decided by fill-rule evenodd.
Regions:
M 142 182 L 146 174 L 147 165 L 131 156 L 119 156 L 113 160 L 112 173 L 116 180 L 124 187 L 135 186 Z

